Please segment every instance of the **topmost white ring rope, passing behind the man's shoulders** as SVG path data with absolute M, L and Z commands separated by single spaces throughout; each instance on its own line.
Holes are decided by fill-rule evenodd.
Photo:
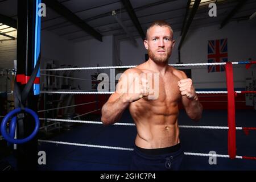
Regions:
M 230 62 L 232 64 L 239 64 L 239 62 Z M 224 63 L 188 63 L 188 64 L 169 64 L 173 67 L 185 67 L 185 66 L 205 66 L 205 65 L 225 65 Z M 41 71 L 65 71 L 65 70 L 85 70 L 85 69 L 115 69 L 115 68 L 134 68 L 137 65 L 129 66 L 110 66 L 110 67 L 81 67 L 81 68 L 53 68 L 53 69 L 41 69 Z

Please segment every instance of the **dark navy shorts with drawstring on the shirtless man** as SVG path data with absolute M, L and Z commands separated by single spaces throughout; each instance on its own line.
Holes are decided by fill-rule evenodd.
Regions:
M 133 171 L 177 171 L 184 153 L 181 144 L 166 148 L 134 147 L 130 169 Z

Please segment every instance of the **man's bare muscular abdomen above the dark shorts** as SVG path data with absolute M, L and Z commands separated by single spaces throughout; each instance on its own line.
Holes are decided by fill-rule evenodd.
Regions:
M 177 123 L 179 110 L 177 105 L 162 108 L 151 105 L 147 108 L 147 104 L 144 104 L 143 108 L 140 107 L 141 104 L 130 106 L 130 113 L 137 127 L 136 146 L 141 148 L 164 148 L 179 143 Z

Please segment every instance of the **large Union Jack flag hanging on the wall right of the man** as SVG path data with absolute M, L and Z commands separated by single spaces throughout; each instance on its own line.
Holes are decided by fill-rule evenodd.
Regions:
M 208 63 L 221 63 L 228 61 L 228 39 L 208 41 Z M 223 72 L 225 65 L 209 65 L 209 72 Z

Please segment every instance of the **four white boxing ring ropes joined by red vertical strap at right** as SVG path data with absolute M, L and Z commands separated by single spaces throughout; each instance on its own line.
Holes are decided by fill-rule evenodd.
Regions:
M 246 68 L 249 68 L 251 64 L 255 64 L 256 61 L 238 61 L 238 62 L 232 62 L 233 65 L 236 64 L 246 64 Z M 208 65 L 226 65 L 226 63 L 196 63 L 196 64 L 170 64 L 173 67 L 180 67 L 180 66 L 208 66 Z M 56 68 L 56 69 L 42 69 L 42 71 L 66 71 L 66 70 L 86 70 L 86 69 L 116 69 L 116 68 L 133 68 L 133 66 L 117 66 L 117 67 L 84 67 L 84 68 Z M 232 67 L 232 65 L 231 65 Z M 227 69 L 227 68 L 226 68 Z M 230 69 L 227 69 L 226 72 L 230 72 Z M 231 69 L 232 72 L 232 69 Z M 233 75 L 233 72 L 231 73 Z M 227 79 L 232 79 L 232 76 L 227 76 Z M 230 80 L 228 80 L 230 81 Z M 232 92 L 231 90 L 228 91 L 197 91 L 197 94 L 228 94 L 228 97 L 232 97 L 232 94 L 229 94 L 229 92 Z M 112 94 L 113 92 L 79 92 L 79 91 L 73 91 L 73 92 L 66 92 L 66 91 L 43 91 L 41 93 L 51 93 L 51 94 Z M 234 91 L 233 97 L 236 97 L 237 94 L 245 94 L 245 93 L 256 93 L 255 91 Z M 231 95 L 231 96 L 230 96 Z M 232 102 L 228 101 L 229 104 Z M 234 104 L 233 104 L 234 105 Z M 92 111 L 93 112 L 93 111 Z M 231 112 L 231 113 L 230 113 Z M 232 110 L 229 109 L 229 117 L 232 116 L 234 113 L 232 113 Z M 48 121 L 57 121 L 57 122 L 74 122 L 74 123 L 86 123 L 90 125 L 102 125 L 101 121 L 81 121 L 81 120 L 75 120 L 75 119 L 54 119 L 54 118 L 40 118 L 42 120 L 47 119 Z M 205 154 L 201 152 L 190 152 L 185 151 L 185 155 L 191 155 L 191 156 L 204 156 L 204 157 L 211 157 L 215 156 L 217 158 L 236 158 L 236 159 L 251 159 L 256 160 L 255 156 L 243 156 L 243 155 L 236 155 L 236 131 L 234 130 L 243 130 L 246 134 L 250 130 L 256 130 L 256 127 L 238 127 L 235 126 L 234 118 L 229 119 L 229 126 L 189 126 L 189 125 L 179 125 L 179 128 L 183 129 L 199 129 L 199 130 L 222 130 L 222 131 L 228 131 L 228 143 L 229 143 L 229 154 Z M 125 123 L 125 122 L 118 122 L 114 123 L 114 126 L 122 126 L 122 127 L 134 127 L 134 123 Z M 56 140 L 39 140 L 40 143 L 54 143 L 54 144 L 65 144 L 65 145 L 71 145 L 71 146 L 80 146 L 80 147 L 93 147 L 93 148 L 101 148 L 101 149 L 108 149 L 108 150 L 122 150 L 122 151 L 133 151 L 133 148 L 129 147 L 119 147 L 119 146 L 101 146 L 96 145 L 92 143 L 72 143 L 72 142 L 64 142 L 64 141 L 56 141 Z

